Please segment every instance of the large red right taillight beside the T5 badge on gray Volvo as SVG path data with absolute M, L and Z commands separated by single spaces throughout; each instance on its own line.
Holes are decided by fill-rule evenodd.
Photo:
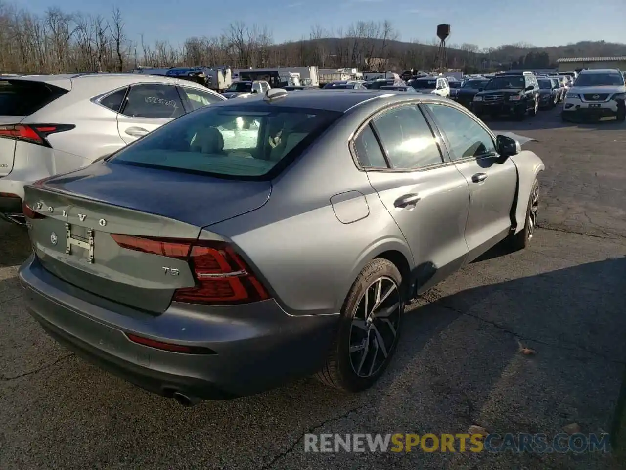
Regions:
M 174 301 L 233 305 L 269 298 L 262 283 L 228 243 L 121 234 L 111 234 L 111 237 L 122 248 L 188 261 L 196 285 L 177 289 Z

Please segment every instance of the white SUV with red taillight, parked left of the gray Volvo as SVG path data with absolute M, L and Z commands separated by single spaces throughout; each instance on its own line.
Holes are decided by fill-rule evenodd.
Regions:
M 125 73 L 0 78 L 0 217 L 24 223 L 24 185 L 90 165 L 226 98 L 179 78 Z

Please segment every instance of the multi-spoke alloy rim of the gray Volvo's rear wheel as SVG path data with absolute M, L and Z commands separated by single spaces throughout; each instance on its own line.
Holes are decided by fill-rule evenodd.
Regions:
M 367 379 L 384 365 L 398 337 L 401 296 L 396 281 L 381 276 L 357 302 L 349 336 L 352 370 Z

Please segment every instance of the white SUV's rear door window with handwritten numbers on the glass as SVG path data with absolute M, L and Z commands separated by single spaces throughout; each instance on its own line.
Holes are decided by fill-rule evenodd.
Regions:
M 185 112 L 175 86 L 145 83 L 130 87 L 121 113 L 128 117 L 173 119 Z

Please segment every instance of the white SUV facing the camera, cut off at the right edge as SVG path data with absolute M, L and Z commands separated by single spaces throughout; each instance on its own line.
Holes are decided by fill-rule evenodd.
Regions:
M 581 71 L 563 101 L 563 120 L 575 117 L 626 119 L 626 86 L 618 69 Z

